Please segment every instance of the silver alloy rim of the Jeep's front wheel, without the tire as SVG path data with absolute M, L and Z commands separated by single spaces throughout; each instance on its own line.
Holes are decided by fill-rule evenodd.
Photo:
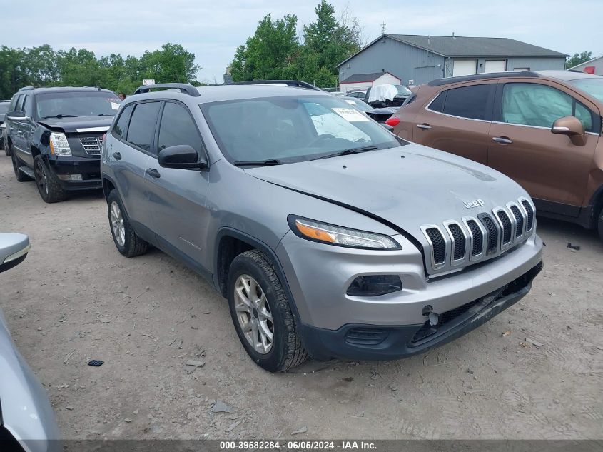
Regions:
M 241 275 L 235 283 L 235 310 L 243 336 L 253 349 L 265 355 L 273 346 L 274 323 L 265 293 L 249 275 Z

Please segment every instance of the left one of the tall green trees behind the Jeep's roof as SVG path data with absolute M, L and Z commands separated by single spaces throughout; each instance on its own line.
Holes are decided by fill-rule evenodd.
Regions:
M 270 14 L 264 16 L 255 34 L 235 53 L 230 68 L 233 80 L 283 79 L 298 49 L 297 24 L 292 14 L 275 21 Z

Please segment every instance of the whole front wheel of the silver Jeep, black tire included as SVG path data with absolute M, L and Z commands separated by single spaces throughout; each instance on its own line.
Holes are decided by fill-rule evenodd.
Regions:
M 243 281 L 247 281 L 246 286 Z M 237 294 L 241 290 L 247 301 L 258 299 L 250 301 L 250 304 L 244 303 Z M 249 297 L 250 292 L 255 296 Z M 308 358 L 295 327 L 288 296 L 264 253 L 252 250 L 235 257 L 228 271 L 228 306 L 245 351 L 261 368 L 268 372 L 283 372 L 299 366 Z M 243 329 L 244 325 L 248 328 Z M 269 347 L 265 347 L 270 341 L 268 335 L 265 335 L 265 343 L 260 340 L 261 331 L 267 330 L 272 333 Z M 254 337 L 260 348 L 264 346 L 263 351 L 252 345 Z

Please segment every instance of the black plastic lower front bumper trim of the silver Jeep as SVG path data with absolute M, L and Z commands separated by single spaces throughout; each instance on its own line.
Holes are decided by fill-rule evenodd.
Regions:
M 500 295 L 479 311 L 472 311 L 470 316 L 462 316 L 457 322 L 447 323 L 445 328 L 416 341 L 415 334 L 424 327 L 423 324 L 403 326 L 377 326 L 351 323 L 338 330 L 327 330 L 301 324 L 300 334 L 308 354 L 315 359 L 343 358 L 353 360 L 387 360 L 423 353 L 431 348 L 441 346 L 469 333 L 486 323 L 498 313 L 520 301 L 532 288 L 534 277 L 542 270 L 542 261 L 512 283 L 508 284 Z M 368 338 L 384 336 L 382 341 L 358 340 L 358 332 L 365 331 Z M 374 331 L 370 334 L 370 331 Z M 356 340 L 349 341 L 352 334 Z M 415 338 L 415 341 L 413 341 Z

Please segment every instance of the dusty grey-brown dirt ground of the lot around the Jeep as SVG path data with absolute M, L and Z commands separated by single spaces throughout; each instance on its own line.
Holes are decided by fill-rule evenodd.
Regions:
M 65 438 L 601 438 L 603 244 L 577 226 L 539 221 L 532 292 L 460 340 L 271 375 L 201 278 L 160 251 L 116 251 L 101 193 L 44 204 L 3 152 L 0 213 L 33 246 L 0 275 L 0 307 Z

